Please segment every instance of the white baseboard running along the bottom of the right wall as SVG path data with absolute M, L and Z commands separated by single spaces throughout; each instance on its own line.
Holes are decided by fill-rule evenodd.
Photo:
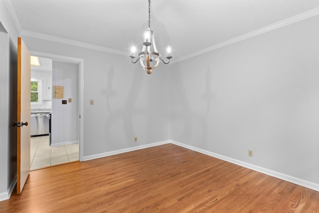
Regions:
M 309 189 L 312 189 L 312 190 L 315 190 L 315 191 L 319 192 L 319 184 L 316 184 L 316 183 L 312 183 L 312 182 L 309 182 L 309 181 L 306 181 L 306 180 L 302 180 L 302 179 L 299 179 L 299 178 L 296 178 L 296 177 L 292 177 L 292 176 L 289 176 L 289 175 L 286 175 L 286 174 L 283 174 L 283 173 L 279 173 L 279 172 L 276 172 L 276 171 L 273 171 L 273 170 L 269 170 L 269 169 L 266 169 L 266 168 L 263 168 L 263 167 L 259 167 L 259 166 L 253 165 L 253 164 L 248 164 L 246 162 L 239 161 L 239 160 L 236 160 L 236 159 L 233 159 L 233 158 L 228 158 L 228 157 L 223 156 L 223 155 L 219 155 L 219 154 L 216 154 L 216 153 L 213 153 L 213 152 L 209 152 L 209 151 L 206 151 L 206 150 L 203 150 L 203 149 L 192 147 L 192 146 L 189 146 L 189 145 L 186 145 L 186 144 L 182 144 L 182 143 L 179 143 L 179 142 L 176 142 L 176 141 L 171 141 L 171 143 L 175 144 L 177 146 L 180 146 L 180 147 L 184 147 L 186 149 L 190 149 L 190 150 L 193 150 L 193 151 L 196 151 L 196 152 L 199 152 L 199 153 L 202 153 L 202 154 L 214 157 L 214 158 L 218 158 L 220 160 L 227 161 L 227 162 L 236 164 L 238 166 L 242 166 L 242 167 L 245 167 L 245 168 L 248 168 L 248 169 L 251 169 L 251 170 L 254 170 L 254 171 L 257 171 L 257 172 L 260 172 L 260 173 L 275 177 L 275 178 L 279 178 L 281 180 L 288 181 L 290 183 L 297 184 L 297 185 L 300 185 L 302 187 L 306 187 L 306 188 L 309 188 Z

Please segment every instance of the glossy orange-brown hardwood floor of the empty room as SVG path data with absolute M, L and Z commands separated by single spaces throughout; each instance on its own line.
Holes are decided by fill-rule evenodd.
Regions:
M 30 172 L 14 213 L 319 213 L 319 192 L 172 144 Z

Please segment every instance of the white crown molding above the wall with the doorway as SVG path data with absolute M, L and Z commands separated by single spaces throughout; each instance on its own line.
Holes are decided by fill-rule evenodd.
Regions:
M 48 41 L 59 42 L 59 43 L 64 43 L 64 44 L 69 44 L 69 45 L 74 45 L 74 46 L 79 46 L 79 47 L 84 47 L 84 48 L 88 48 L 88 49 L 94 49 L 94 50 L 103 51 L 103 52 L 119 54 L 119 55 L 129 55 L 130 54 L 129 52 L 125 52 L 125 51 L 120 51 L 120 50 L 111 49 L 111 48 L 102 47 L 102 46 L 97 46 L 97 45 L 88 44 L 88 43 L 83 43 L 83 42 L 74 41 L 74 40 L 65 39 L 65 38 L 60 38 L 60 37 L 56 37 L 56 36 L 46 35 L 46 34 L 42 34 L 42 33 L 31 32 L 28 30 L 22 30 L 20 32 L 20 35 L 33 37 L 33 38 L 39 38 L 39 39 L 48 40 Z

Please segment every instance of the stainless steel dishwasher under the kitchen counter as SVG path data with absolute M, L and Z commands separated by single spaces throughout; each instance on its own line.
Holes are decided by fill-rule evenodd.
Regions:
M 31 113 L 31 136 L 49 135 L 49 113 Z

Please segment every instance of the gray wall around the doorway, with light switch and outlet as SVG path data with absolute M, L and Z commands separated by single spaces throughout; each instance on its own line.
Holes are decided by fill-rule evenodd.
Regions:
M 84 157 L 169 139 L 169 66 L 148 75 L 128 56 L 22 38 L 30 51 L 84 59 Z

